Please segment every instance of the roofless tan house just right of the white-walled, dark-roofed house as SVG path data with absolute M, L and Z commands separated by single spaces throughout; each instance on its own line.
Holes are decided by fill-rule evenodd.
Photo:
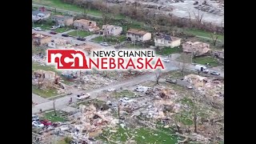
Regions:
M 203 42 L 184 42 L 182 49 L 185 53 L 194 54 L 194 56 L 202 56 L 210 54 L 210 45 Z

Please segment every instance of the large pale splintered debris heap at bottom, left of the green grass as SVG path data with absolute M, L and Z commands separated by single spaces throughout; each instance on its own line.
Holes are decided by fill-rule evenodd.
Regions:
M 77 142 L 89 142 L 90 138 L 98 137 L 106 127 L 114 127 L 118 119 L 111 116 L 110 109 L 97 110 L 94 104 L 80 105 L 80 112 L 72 116 L 70 125 L 59 127 L 57 131 L 68 131 L 65 135 L 71 136 Z M 65 132 L 64 132 L 65 133 Z

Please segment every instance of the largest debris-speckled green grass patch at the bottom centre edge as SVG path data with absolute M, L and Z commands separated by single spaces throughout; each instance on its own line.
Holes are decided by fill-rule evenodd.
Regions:
M 110 137 L 110 134 L 113 134 L 110 139 L 118 143 L 126 142 L 126 140 L 128 139 L 127 135 L 130 138 L 134 136 L 133 140 L 136 143 L 140 143 L 140 144 L 147 144 L 147 143 L 175 144 L 176 142 L 178 142 L 178 138 L 177 136 L 174 136 L 174 132 L 172 133 L 170 131 L 166 132 L 165 130 L 160 130 L 160 129 L 152 130 L 144 127 L 133 128 L 133 129 L 125 128 L 124 130 L 122 129 L 121 126 L 119 126 L 116 133 L 112 133 L 110 132 L 110 130 L 103 131 L 103 136 L 107 138 Z M 103 141 L 106 141 L 106 139 L 101 136 L 99 138 L 102 139 Z M 113 142 L 110 142 L 110 143 L 113 143 Z

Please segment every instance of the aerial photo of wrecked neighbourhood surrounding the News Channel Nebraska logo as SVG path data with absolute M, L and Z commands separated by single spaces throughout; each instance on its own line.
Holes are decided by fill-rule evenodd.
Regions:
M 48 49 L 165 70 L 57 70 Z M 32 143 L 224 143 L 224 0 L 32 0 Z

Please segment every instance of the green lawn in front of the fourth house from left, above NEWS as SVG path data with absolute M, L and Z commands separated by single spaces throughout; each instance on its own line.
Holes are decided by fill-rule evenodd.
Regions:
M 96 42 L 109 42 L 110 44 L 114 45 L 116 43 L 126 41 L 126 36 L 123 36 L 123 35 L 122 36 L 117 36 L 117 37 L 107 36 L 105 38 L 105 40 L 103 40 L 102 36 L 99 36 L 99 37 L 93 38 L 92 40 L 94 40 Z

